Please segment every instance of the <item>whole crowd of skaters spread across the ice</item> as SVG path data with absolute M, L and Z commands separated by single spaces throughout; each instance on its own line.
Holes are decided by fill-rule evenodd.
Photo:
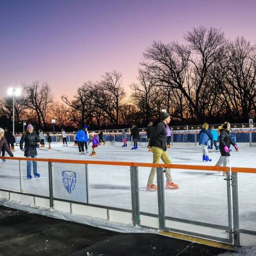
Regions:
M 167 112 L 161 113 L 161 121 L 154 127 L 153 122 L 149 122 L 146 133 L 147 133 L 147 142 L 148 142 L 148 151 L 153 153 L 153 163 L 159 163 L 160 159 L 165 164 L 172 163 L 167 154 L 167 148 L 170 147 L 170 140 L 172 137 L 172 131 L 169 127 L 170 115 Z M 65 129 L 61 129 L 62 136 L 62 146 L 68 146 L 67 144 L 67 134 Z M 92 132 L 89 135 L 88 126 L 87 125 L 79 125 L 78 131 L 73 133 L 74 136 L 74 145 L 78 146 L 78 154 L 85 155 L 88 153 L 88 145 L 92 143 L 92 153 L 91 156 L 96 156 L 96 148 L 101 145 L 105 145 L 105 141 L 103 140 L 103 132 L 99 131 L 99 133 Z M 139 139 L 139 129 L 137 125 L 133 125 L 131 128 L 131 139 L 133 141 L 132 150 L 138 150 L 138 139 Z M 123 145 L 122 147 L 127 147 L 127 138 L 125 130 L 122 129 L 122 139 Z M 219 138 L 219 146 L 217 145 L 217 140 Z M 210 145 L 208 143 L 210 141 Z M 2 156 L 5 156 L 5 152 L 7 152 L 11 157 L 13 157 L 12 150 L 14 150 L 14 142 L 15 138 L 13 134 L 8 131 L 8 128 L 5 130 L 0 128 L 0 148 L 2 152 Z M 25 142 L 25 146 L 23 146 Z M 50 133 L 47 133 L 47 142 L 48 149 L 51 149 L 51 136 Z M 236 139 L 234 134 L 232 135 L 232 131 L 230 129 L 230 123 L 224 122 L 216 131 L 214 127 L 210 127 L 207 123 L 202 125 L 202 129 L 199 134 L 199 144 L 202 147 L 203 161 L 211 161 L 208 156 L 208 149 L 212 152 L 212 147 L 215 145 L 216 151 L 220 150 L 221 156 L 216 163 L 216 166 L 228 166 L 230 154 L 230 144 L 234 146 L 236 151 L 238 151 L 238 146 L 236 144 Z M 37 156 L 37 147 L 45 147 L 45 136 L 44 132 L 39 129 L 38 133 L 34 131 L 34 127 L 32 124 L 27 126 L 27 130 L 23 134 L 20 139 L 20 150 L 24 152 L 24 156 L 27 158 L 36 158 Z M 84 151 L 85 150 L 85 151 Z M 2 159 L 2 161 L 6 161 L 6 159 Z M 37 162 L 36 161 L 27 161 L 27 178 L 31 179 L 31 169 L 33 166 L 33 174 L 34 177 L 40 177 L 40 174 L 37 172 Z M 147 190 L 157 190 L 157 186 L 154 184 L 154 178 L 156 174 L 156 168 L 153 167 L 150 172 L 150 176 L 147 181 Z M 166 189 L 178 189 L 179 185 L 174 183 L 172 180 L 172 175 L 170 174 L 170 170 L 168 168 L 165 169 L 166 176 Z

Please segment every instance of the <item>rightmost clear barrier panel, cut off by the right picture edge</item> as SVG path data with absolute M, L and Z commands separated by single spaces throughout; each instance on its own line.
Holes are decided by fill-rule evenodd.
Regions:
M 255 184 L 256 174 L 238 173 L 238 203 L 240 229 L 256 231 Z

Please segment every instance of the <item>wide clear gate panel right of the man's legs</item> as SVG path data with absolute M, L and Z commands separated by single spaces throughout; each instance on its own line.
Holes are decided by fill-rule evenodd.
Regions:
M 170 169 L 170 174 L 179 189 L 164 190 L 166 216 L 228 226 L 226 176 L 189 169 Z

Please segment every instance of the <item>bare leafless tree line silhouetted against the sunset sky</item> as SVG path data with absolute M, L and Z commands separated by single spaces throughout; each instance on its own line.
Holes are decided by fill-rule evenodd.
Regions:
M 59 126 L 145 126 L 158 121 L 166 109 L 175 124 L 247 122 L 256 113 L 256 46 L 244 37 L 228 40 L 216 28 L 198 27 L 184 43 L 154 41 L 143 52 L 137 82 L 127 97 L 122 74 L 106 72 L 87 81 L 69 98 L 54 102 L 48 83 L 23 84 L 15 102 L 15 120 L 26 118 L 47 127 L 54 117 Z M 12 99 L 0 101 L 0 116 L 12 119 Z

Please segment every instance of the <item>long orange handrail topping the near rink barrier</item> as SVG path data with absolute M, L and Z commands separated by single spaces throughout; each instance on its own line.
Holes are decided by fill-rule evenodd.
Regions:
M 116 161 L 98 161 L 98 160 L 74 160 L 74 159 L 55 159 L 55 158 L 26 158 L 26 157 L 0 157 L 0 159 L 38 161 L 38 162 L 56 162 L 56 163 L 76 163 L 76 164 L 99 164 L 99 165 L 119 165 L 119 166 L 139 166 L 156 167 L 170 169 L 191 169 L 191 170 L 210 170 L 214 172 L 228 172 L 228 166 L 204 166 L 190 164 L 164 164 L 164 163 L 140 163 L 140 162 L 116 162 Z M 231 167 L 232 172 L 236 173 L 256 173 L 256 168 Z

